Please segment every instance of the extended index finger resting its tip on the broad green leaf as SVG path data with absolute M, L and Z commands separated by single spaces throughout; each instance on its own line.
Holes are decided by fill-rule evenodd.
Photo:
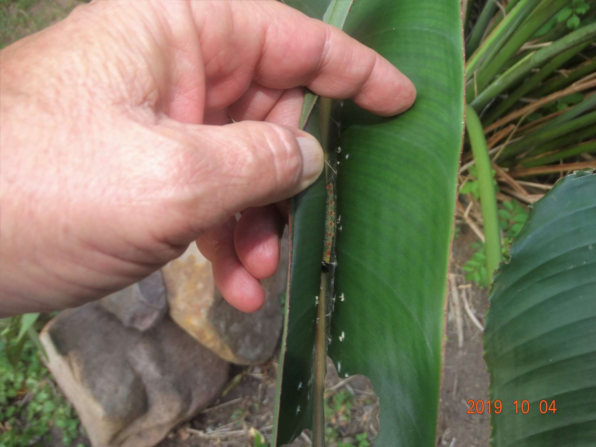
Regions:
M 199 27 L 209 29 L 201 33 L 208 79 L 210 75 L 222 79 L 226 66 L 233 73 L 224 79 L 238 79 L 246 67 L 252 67 L 251 77 L 261 85 L 306 86 L 327 98 L 351 98 L 383 116 L 400 113 L 414 103 L 416 89 L 408 77 L 336 27 L 274 1 L 213 2 L 210 8 L 220 11 L 209 14 L 218 17 L 209 24 L 201 3 L 194 13 Z M 219 31 L 213 30 L 216 26 Z M 229 60 L 231 54 L 236 61 Z

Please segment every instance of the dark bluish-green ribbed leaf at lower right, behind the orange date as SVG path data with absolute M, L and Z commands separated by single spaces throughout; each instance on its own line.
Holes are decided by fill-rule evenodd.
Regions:
M 495 276 L 484 333 L 493 447 L 596 445 L 595 197 L 596 174 L 558 181 Z

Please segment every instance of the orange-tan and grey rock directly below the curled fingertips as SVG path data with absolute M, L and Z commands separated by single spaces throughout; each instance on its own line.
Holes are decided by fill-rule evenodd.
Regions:
M 211 263 L 193 243 L 162 269 L 170 316 L 180 327 L 222 359 L 241 365 L 260 364 L 274 354 L 283 326 L 281 297 L 288 271 L 287 231 L 281 240 L 280 267 L 262 281 L 263 308 L 244 313 L 229 305 L 213 281 Z

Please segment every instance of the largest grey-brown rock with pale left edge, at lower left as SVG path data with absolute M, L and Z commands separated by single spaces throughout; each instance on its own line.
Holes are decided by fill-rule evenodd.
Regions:
M 89 303 L 61 312 L 40 339 L 94 447 L 154 446 L 228 380 L 229 365 L 167 316 L 139 331 Z

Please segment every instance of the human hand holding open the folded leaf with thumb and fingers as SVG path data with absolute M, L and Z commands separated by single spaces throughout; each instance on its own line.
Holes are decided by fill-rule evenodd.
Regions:
M 324 163 L 296 129 L 302 86 L 383 116 L 415 98 L 374 51 L 274 1 L 92 2 L 0 61 L 4 315 L 100 298 L 194 240 L 255 311 L 285 224 L 271 204 Z

